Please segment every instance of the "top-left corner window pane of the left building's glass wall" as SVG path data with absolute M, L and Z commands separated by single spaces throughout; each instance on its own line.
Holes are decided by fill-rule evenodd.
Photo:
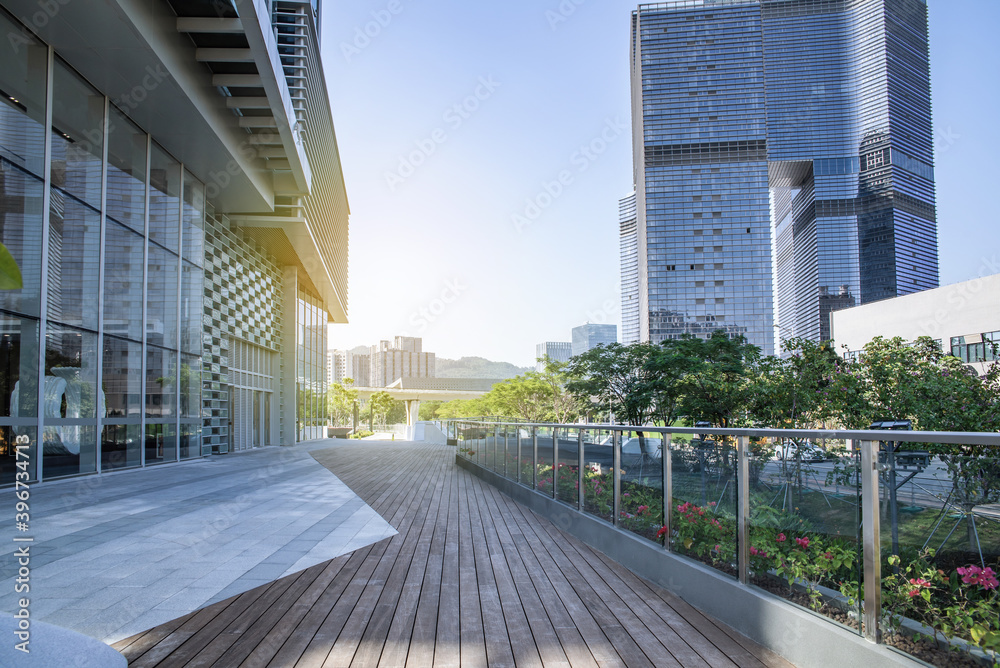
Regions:
M 18 36 L 17 48 L 4 49 L 0 67 L 0 157 L 42 176 L 48 48 L 4 15 L 0 34 Z

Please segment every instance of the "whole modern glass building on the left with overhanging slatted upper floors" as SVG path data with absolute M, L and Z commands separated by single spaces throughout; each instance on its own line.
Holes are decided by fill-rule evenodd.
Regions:
M 309 2 L 2 0 L 0 484 L 323 435 L 347 199 Z M 18 18 L 22 17 L 22 18 Z

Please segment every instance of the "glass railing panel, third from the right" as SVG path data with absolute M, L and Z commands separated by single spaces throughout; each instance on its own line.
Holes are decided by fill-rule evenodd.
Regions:
M 672 549 L 735 577 L 735 440 L 675 438 Z

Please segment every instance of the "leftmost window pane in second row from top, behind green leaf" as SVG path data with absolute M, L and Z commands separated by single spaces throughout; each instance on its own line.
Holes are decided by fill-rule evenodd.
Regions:
M 42 187 L 40 180 L 0 160 L 0 243 L 14 257 L 24 283 L 20 290 L 0 290 L 0 309 L 24 315 L 38 315 L 42 275 Z

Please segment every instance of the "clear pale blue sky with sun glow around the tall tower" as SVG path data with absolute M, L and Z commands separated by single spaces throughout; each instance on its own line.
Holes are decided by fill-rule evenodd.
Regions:
M 929 4 L 947 284 L 1000 273 L 989 206 L 1000 2 Z M 528 365 L 536 343 L 568 341 L 576 325 L 620 324 L 635 7 L 325 1 L 323 60 L 352 211 L 351 323 L 331 327 L 333 347 L 405 333 L 441 357 Z

